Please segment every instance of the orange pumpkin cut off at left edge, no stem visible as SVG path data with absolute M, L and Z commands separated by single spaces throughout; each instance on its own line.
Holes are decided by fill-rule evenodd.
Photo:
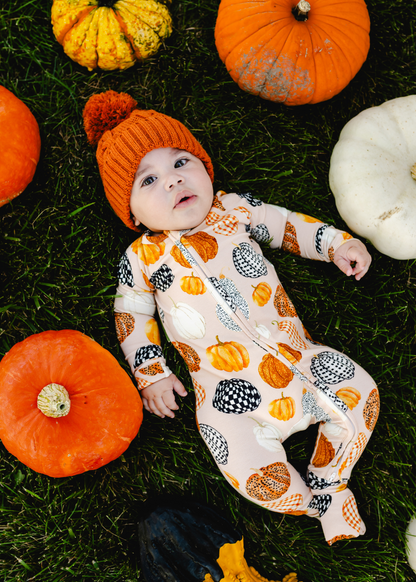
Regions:
M 32 181 L 40 156 L 39 126 L 30 109 L 0 85 L 0 206 Z

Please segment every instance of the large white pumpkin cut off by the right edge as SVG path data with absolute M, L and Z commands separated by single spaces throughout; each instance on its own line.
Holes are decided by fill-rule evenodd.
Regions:
M 366 109 L 345 125 L 329 185 L 352 231 L 389 257 L 416 258 L 416 95 Z

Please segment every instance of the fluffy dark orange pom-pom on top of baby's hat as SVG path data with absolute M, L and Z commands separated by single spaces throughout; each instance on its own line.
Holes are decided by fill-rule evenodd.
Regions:
M 133 97 L 117 91 L 107 91 L 90 97 L 82 114 L 90 144 L 96 146 L 103 134 L 128 119 L 136 106 L 137 101 Z

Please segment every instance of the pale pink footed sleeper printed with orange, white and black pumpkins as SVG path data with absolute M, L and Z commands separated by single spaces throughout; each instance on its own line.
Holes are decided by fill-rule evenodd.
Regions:
M 145 264 L 129 248 L 121 263 L 123 285 L 116 311 L 128 305 L 135 322 L 121 345 L 129 364 L 136 365 L 140 388 L 162 376 L 160 368 L 166 368 L 161 348 L 144 331 L 152 317 L 151 301 L 156 301 L 164 331 L 191 373 L 197 425 L 220 469 L 227 469 L 224 477 L 247 499 L 272 511 L 321 513 L 325 538 L 332 540 L 351 534 L 342 504 L 350 494 L 351 469 L 375 423 L 378 393 L 370 398 L 375 385 L 359 365 L 310 339 L 273 265 L 257 246 L 263 240 L 277 248 L 286 230 L 286 250 L 295 245 L 296 233 L 301 254 L 316 256 L 315 235 L 322 223 L 304 221 L 281 208 L 268 212 L 269 205 L 251 196 L 221 194 L 207 221 L 196 229 L 148 233 L 142 239 L 151 248 L 147 254 L 158 255 L 156 262 L 150 263 L 145 254 Z M 225 217 L 240 221 L 238 235 L 226 232 L 235 226 L 234 218 L 227 225 Z M 340 232 L 331 238 L 334 229 L 327 231 L 321 236 L 324 253 L 329 246 L 337 249 L 343 238 Z M 165 245 L 162 253 L 160 245 Z M 328 261 L 327 255 L 323 258 Z M 138 296 L 134 309 L 129 304 L 132 294 Z M 325 383 L 328 394 L 354 419 L 357 442 L 349 444 L 350 424 L 335 414 L 318 382 Z M 322 392 L 326 396 L 321 398 Z M 285 441 L 319 422 L 324 424 L 308 477 L 302 479 L 286 459 Z

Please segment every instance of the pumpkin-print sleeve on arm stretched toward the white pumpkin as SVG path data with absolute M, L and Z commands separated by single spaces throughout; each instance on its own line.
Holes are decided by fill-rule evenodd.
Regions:
M 259 243 L 318 261 L 333 261 L 335 251 L 353 237 L 320 220 L 273 204 L 253 209 L 251 236 Z

